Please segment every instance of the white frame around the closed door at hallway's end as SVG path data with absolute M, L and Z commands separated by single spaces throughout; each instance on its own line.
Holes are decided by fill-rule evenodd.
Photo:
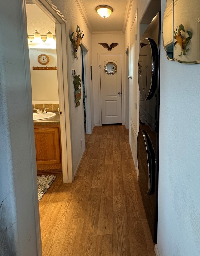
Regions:
M 122 82 L 122 125 L 124 125 L 124 55 L 123 53 L 116 53 L 116 54 L 110 54 L 110 53 L 98 53 L 98 94 L 99 94 L 99 126 L 102 126 L 102 118 L 101 118 L 101 74 L 100 74 L 100 56 L 121 56 L 121 82 Z

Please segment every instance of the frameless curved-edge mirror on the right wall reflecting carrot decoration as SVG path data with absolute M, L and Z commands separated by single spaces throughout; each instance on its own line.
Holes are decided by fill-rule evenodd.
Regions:
M 199 0 L 167 0 L 163 18 L 163 45 L 169 60 L 200 63 Z

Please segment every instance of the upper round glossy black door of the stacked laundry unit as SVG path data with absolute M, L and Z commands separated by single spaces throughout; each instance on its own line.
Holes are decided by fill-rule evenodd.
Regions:
M 151 38 L 145 38 L 141 43 L 138 71 L 140 95 L 143 100 L 153 97 L 157 88 L 158 47 Z

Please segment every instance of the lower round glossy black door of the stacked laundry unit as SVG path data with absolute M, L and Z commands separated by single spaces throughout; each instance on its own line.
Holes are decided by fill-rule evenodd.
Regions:
M 145 195 L 155 191 L 155 152 L 153 144 L 146 131 L 138 133 L 138 168 L 139 185 Z

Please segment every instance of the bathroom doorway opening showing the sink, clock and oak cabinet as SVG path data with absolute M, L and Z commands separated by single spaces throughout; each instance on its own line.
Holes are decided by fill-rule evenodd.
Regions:
M 62 173 L 55 23 L 35 4 L 26 4 L 26 13 L 37 174 Z M 38 33 L 44 36 L 34 42 Z M 48 35 L 54 35 L 51 44 L 45 42 Z

